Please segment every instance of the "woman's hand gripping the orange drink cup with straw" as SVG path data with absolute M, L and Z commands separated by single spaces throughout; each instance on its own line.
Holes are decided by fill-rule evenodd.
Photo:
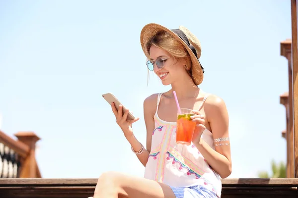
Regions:
M 193 113 L 196 115 L 192 115 L 192 116 L 190 116 L 190 118 L 192 119 L 193 122 L 196 122 L 196 127 L 195 127 L 194 135 L 192 138 L 192 142 L 199 143 L 201 140 L 201 136 L 202 136 L 204 130 L 206 129 L 205 115 L 200 114 L 199 111 L 197 111 L 197 110 L 193 110 Z

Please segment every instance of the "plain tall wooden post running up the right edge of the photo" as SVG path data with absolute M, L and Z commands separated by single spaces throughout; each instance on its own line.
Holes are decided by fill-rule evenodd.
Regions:
M 293 107 L 294 107 L 294 157 L 295 177 L 298 178 L 298 46 L 297 46 L 297 0 L 291 0 L 292 15 L 292 68 L 293 68 Z

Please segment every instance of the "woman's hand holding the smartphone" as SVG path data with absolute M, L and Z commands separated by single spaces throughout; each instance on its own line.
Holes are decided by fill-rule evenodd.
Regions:
M 137 122 L 140 118 L 135 118 L 134 120 L 126 121 L 129 109 L 126 109 L 125 113 L 122 115 L 123 106 L 120 104 L 119 109 L 117 110 L 115 107 L 115 103 L 112 102 L 112 110 L 116 117 L 116 122 L 122 129 L 124 136 L 126 138 L 130 138 L 133 135 L 132 124 Z

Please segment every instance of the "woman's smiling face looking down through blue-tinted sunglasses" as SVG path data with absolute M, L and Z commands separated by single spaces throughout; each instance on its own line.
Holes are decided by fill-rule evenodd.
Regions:
M 155 46 L 151 46 L 149 49 L 150 61 L 154 63 L 153 71 L 159 77 L 163 85 L 170 85 L 175 82 L 179 77 L 181 77 L 181 72 L 186 72 L 184 65 L 184 60 L 177 60 L 172 57 L 167 51 L 159 49 Z M 158 68 L 157 63 L 163 63 L 162 68 Z M 161 60 L 161 59 L 163 60 Z M 161 61 L 160 61 L 161 60 Z

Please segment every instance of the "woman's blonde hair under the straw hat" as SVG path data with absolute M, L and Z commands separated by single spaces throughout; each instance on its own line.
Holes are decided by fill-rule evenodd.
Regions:
M 150 59 L 149 50 L 151 46 L 155 46 L 159 49 L 163 49 L 167 51 L 172 57 L 174 57 L 177 60 L 184 59 L 186 62 L 186 64 L 184 65 L 184 68 L 186 69 L 187 73 L 190 75 L 190 77 L 193 80 L 192 72 L 191 72 L 192 62 L 190 59 L 190 55 L 188 51 L 185 49 L 185 47 L 179 41 L 177 41 L 172 35 L 170 35 L 165 31 L 157 32 L 146 45 L 146 49 L 147 49 L 146 56 L 148 59 Z M 148 72 L 148 78 L 149 78 L 149 72 Z

